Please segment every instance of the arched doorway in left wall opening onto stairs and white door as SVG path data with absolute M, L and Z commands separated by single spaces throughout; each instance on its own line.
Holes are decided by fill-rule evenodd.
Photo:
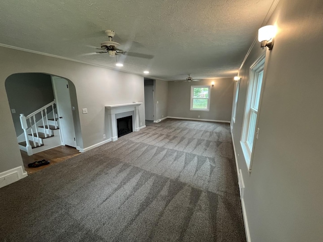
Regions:
M 57 88 L 62 85 L 67 87 L 63 94 L 61 93 L 62 88 Z M 46 111 L 40 111 L 26 119 L 28 142 L 32 146 L 37 143 L 36 147 L 33 147 L 32 153 L 60 145 L 82 147 L 76 90 L 72 81 L 44 73 L 17 73 L 6 79 L 5 87 L 18 143 L 25 142 L 27 146 L 20 114 L 28 116 L 28 114 L 33 114 L 33 112 L 51 104 L 46 108 Z M 59 97 L 61 97 L 61 101 L 58 100 Z M 67 109 L 69 113 L 66 112 Z M 63 119 L 64 121 L 69 119 L 70 122 L 63 122 Z M 33 137 L 31 134 L 34 134 Z M 73 142 L 70 142 L 71 140 Z

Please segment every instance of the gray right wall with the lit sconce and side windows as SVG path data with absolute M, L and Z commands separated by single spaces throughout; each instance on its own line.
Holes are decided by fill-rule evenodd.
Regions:
M 323 241 L 323 2 L 281 0 L 267 24 L 279 32 L 266 54 L 259 139 L 248 174 L 240 139 L 249 67 L 244 63 L 233 124 L 252 242 Z

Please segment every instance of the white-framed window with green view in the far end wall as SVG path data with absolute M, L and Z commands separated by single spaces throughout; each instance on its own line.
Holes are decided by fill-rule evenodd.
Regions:
M 190 110 L 210 110 L 210 86 L 191 86 Z

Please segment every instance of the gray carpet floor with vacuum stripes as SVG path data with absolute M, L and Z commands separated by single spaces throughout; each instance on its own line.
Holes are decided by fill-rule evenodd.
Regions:
M 0 189 L 0 241 L 246 241 L 230 125 L 166 119 Z

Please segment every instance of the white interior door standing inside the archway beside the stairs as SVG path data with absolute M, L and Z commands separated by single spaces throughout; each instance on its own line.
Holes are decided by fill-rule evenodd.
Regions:
M 75 129 L 68 81 L 52 77 L 59 116 L 60 130 L 64 145 L 76 147 Z

